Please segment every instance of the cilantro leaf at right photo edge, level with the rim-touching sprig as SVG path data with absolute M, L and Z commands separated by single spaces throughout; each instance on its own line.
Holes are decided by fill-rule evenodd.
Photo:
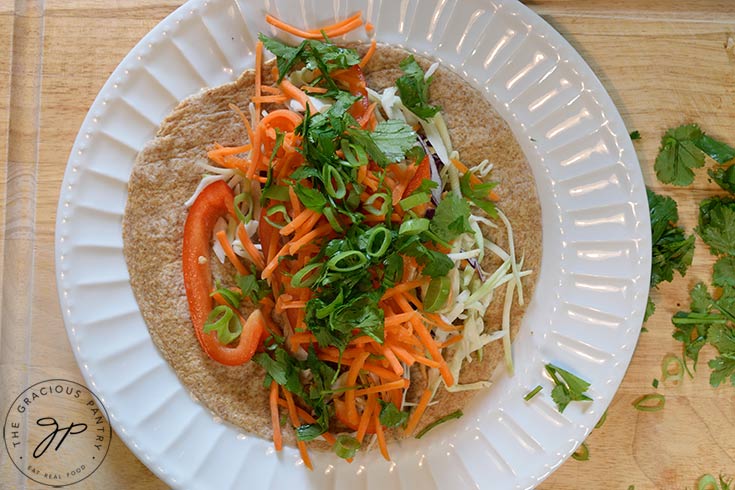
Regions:
M 735 200 L 705 199 L 699 205 L 696 232 L 715 255 L 735 255 Z

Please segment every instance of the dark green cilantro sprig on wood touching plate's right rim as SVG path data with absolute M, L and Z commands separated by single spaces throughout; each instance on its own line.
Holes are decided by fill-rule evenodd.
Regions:
M 679 219 L 676 201 L 646 189 L 651 212 L 651 287 L 662 281 L 671 282 L 674 271 L 684 275 L 694 256 L 694 235 L 687 237 L 683 228 L 676 226 Z

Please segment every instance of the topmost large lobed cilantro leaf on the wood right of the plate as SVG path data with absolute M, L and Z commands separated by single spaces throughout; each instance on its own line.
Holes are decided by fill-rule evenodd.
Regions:
M 694 181 L 693 168 L 704 165 L 704 152 L 695 141 L 702 137 L 696 124 L 669 129 L 661 138 L 661 147 L 654 169 L 656 177 L 664 184 L 689 185 Z

